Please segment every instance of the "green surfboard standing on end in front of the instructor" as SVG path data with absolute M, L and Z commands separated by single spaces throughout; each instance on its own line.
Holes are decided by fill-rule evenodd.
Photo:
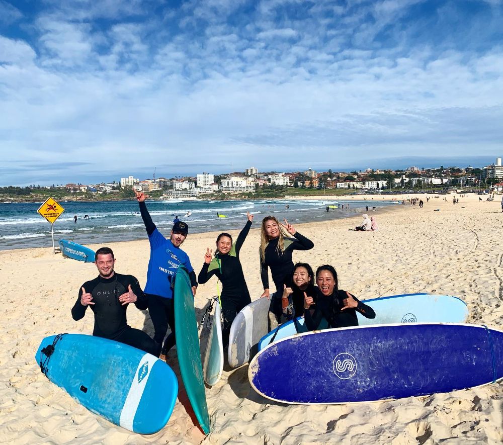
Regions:
M 184 268 L 177 269 L 174 280 L 175 335 L 180 374 L 196 418 L 204 433 L 208 434 L 210 416 L 206 404 L 194 296 L 189 276 Z

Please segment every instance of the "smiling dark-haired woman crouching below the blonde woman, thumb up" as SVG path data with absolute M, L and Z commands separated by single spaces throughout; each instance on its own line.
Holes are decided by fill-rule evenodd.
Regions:
M 293 268 L 291 283 L 288 286 L 283 285 L 281 300 L 283 322 L 304 315 L 304 292 L 315 298 L 314 273 L 311 266 L 305 262 L 298 262 Z

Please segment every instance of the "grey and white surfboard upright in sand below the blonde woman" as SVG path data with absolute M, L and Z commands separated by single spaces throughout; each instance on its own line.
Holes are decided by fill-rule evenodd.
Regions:
M 249 361 L 258 351 L 259 340 L 267 334 L 271 300 L 259 298 L 236 315 L 229 334 L 229 366 L 237 368 Z

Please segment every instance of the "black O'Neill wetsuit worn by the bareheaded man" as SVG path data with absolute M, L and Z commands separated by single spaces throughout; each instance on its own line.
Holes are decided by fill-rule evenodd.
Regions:
M 128 292 L 128 286 L 136 295 L 134 305 L 138 309 L 147 308 L 147 298 L 140 288 L 138 280 L 132 275 L 114 273 L 111 278 L 98 276 L 84 283 L 78 291 L 77 301 L 71 309 L 74 320 L 80 320 L 86 314 L 88 305 L 80 303 L 82 287 L 93 296 L 89 305 L 95 315 L 93 335 L 129 344 L 151 354 L 156 351 L 156 343 L 143 331 L 127 324 L 126 310 L 129 304 L 122 306 L 119 297 Z

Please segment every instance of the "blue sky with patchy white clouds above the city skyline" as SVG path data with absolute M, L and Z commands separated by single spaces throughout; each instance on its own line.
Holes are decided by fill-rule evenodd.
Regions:
M 0 186 L 474 166 L 503 0 L 0 0 Z

